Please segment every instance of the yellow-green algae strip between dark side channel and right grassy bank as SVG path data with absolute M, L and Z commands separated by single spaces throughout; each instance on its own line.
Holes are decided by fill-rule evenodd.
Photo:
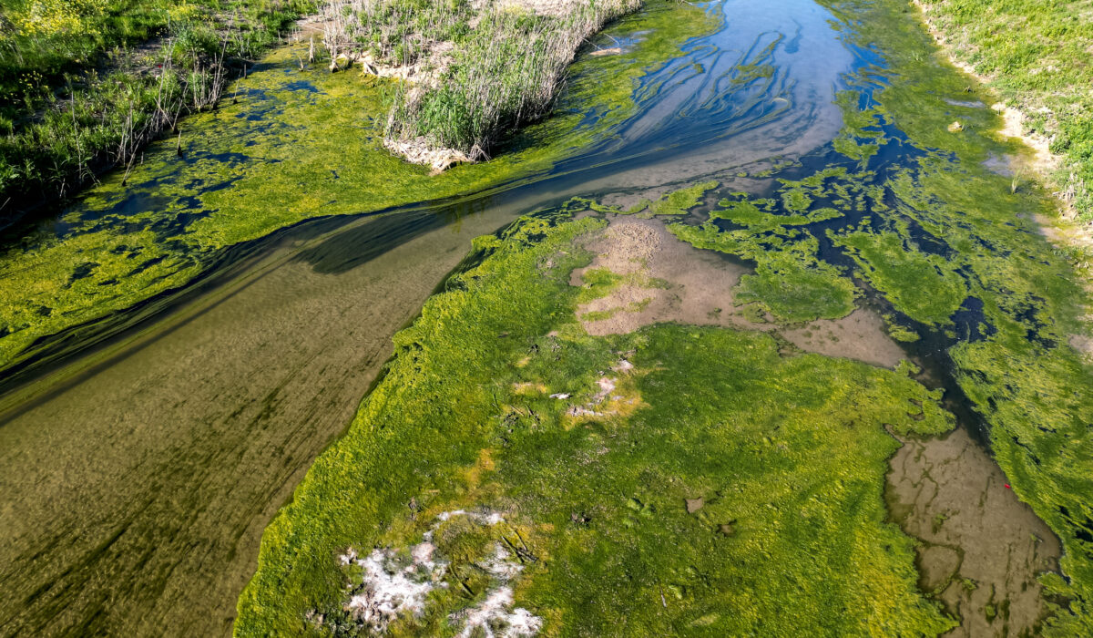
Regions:
M 1000 124 L 996 113 L 952 105 L 978 94 L 965 77 L 922 55 L 935 50 L 933 44 L 907 20 L 902 3 L 839 3 L 832 11 L 844 24 L 844 37 L 860 46 L 881 43 L 891 65 L 890 79 L 872 92 L 869 109 L 926 151 L 910 165 L 890 171 L 879 185 L 895 208 L 870 211 L 868 241 L 855 239 L 853 229 L 833 239 L 873 244 L 883 236 L 878 233 L 893 233 L 909 259 L 924 258 L 926 251 L 947 257 L 948 266 L 929 277 L 949 281 L 943 286 L 952 290 L 960 277 L 968 295 L 982 302 L 977 338 L 962 335 L 967 340 L 949 351 L 956 381 L 989 425 L 995 457 L 1014 491 L 1062 541 L 1067 579 L 1046 575 L 1042 581 L 1067 602 L 1055 607 L 1043 634 L 1088 636 L 1093 633 L 1088 437 L 1093 371 L 1068 345 L 1071 335 L 1088 334 L 1080 318 L 1088 298 L 1069 262 L 1072 255 L 1054 248 L 1029 219 L 1031 212 L 1051 211 L 1054 204 L 1035 187 L 1014 190 L 1009 178 L 984 166 L 990 156 L 1020 151 L 991 136 Z M 947 130 L 954 111 L 964 124 L 960 135 Z M 913 233 L 908 222 L 919 231 Z M 893 250 L 872 257 L 860 251 L 854 255 L 865 270 L 877 272 L 894 257 L 895 246 L 889 245 Z M 886 294 L 893 306 L 908 315 L 929 308 L 905 294 L 915 286 L 908 278 L 893 281 L 901 279 Z M 951 293 L 947 304 L 924 318 L 952 308 L 955 297 Z

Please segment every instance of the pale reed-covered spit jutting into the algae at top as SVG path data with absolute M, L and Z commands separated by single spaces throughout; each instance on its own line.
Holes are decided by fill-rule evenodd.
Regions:
M 453 159 L 489 156 L 506 135 L 545 115 L 577 48 L 640 5 L 329 0 L 322 16 L 332 56 L 360 60 L 367 70 L 401 71 L 404 82 L 387 118 L 392 149 L 443 167 Z

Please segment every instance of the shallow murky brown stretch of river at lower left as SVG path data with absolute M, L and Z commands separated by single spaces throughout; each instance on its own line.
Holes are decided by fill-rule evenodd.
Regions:
M 283 246 L 22 406 L 0 427 L 0 557 L 21 583 L 0 606 L 25 610 L 8 627 L 228 634 L 262 529 L 349 422 L 390 335 L 508 218 L 473 214 L 336 275 L 298 258 L 332 237 Z

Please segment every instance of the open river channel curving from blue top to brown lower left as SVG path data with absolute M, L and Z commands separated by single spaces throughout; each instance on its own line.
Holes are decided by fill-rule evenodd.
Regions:
M 3 380 L 0 634 L 228 634 L 263 526 L 349 422 L 390 336 L 472 237 L 572 196 L 826 161 L 843 124 L 835 92 L 850 74 L 879 70 L 879 57 L 808 0 L 707 10 L 715 33 L 640 73 L 633 113 L 545 172 L 287 225 L 215 253 L 188 282 L 39 343 Z M 626 33 L 626 24 L 613 28 Z M 633 49 L 647 37 L 626 34 Z M 254 73 L 268 74 L 263 94 L 275 96 L 306 85 L 312 71 L 269 63 Z M 261 95 L 245 101 L 240 135 L 268 109 Z M 344 136 L 354 143 L 353 131 Z M 240 174 L 293 170 L 258 166 L 240 149 Z M 153 197 L 126 198 L 117 182 L 97 197 L 125 199 L 122 219 L 154 225 L 164 206 L 156 189 L 185 198 L 190 177 L 130 186 Z M 63 219 L 39 235 L 77 241 Z

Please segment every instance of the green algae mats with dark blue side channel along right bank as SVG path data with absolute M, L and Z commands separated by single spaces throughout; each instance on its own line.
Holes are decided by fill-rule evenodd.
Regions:
M 833 148 L 845 158 L 790 172 L 772 196 L 730 198 L 710 222 L 673 232 L 755 259 L 757 272 L 772 257 L 756 246 L 812 258 L 826 244 L 824 262 L 851 266 L 891 304 L 897 327 L 945 351 L 1014 491 L 1062 542 L 1065 578 L 1041 579 L 1055 613 L 1038 631 L 1088 636 L 1093 371 L 1090 350 L 1078 347 L 1089 335 L 1079 270 L 1089 257 L 1053 246 L 1032 220 L 1055 210 L 1050 194 L 992 171 L 991 158 L 1018 154 L 1020 143 L 999 140 L 987 91 L 942 61 L 901 2 L 825 4 L 847 42 L 875 47 L 888 63 L 880 77 L 851 77 L 856 90 L 837 98 L 844 128 Z M 828 221 L 802 225 L 801 201 Z M 734 225 L 722 230 L 717 219 Z M 777 301 L 764 303 L 773 311 Z

